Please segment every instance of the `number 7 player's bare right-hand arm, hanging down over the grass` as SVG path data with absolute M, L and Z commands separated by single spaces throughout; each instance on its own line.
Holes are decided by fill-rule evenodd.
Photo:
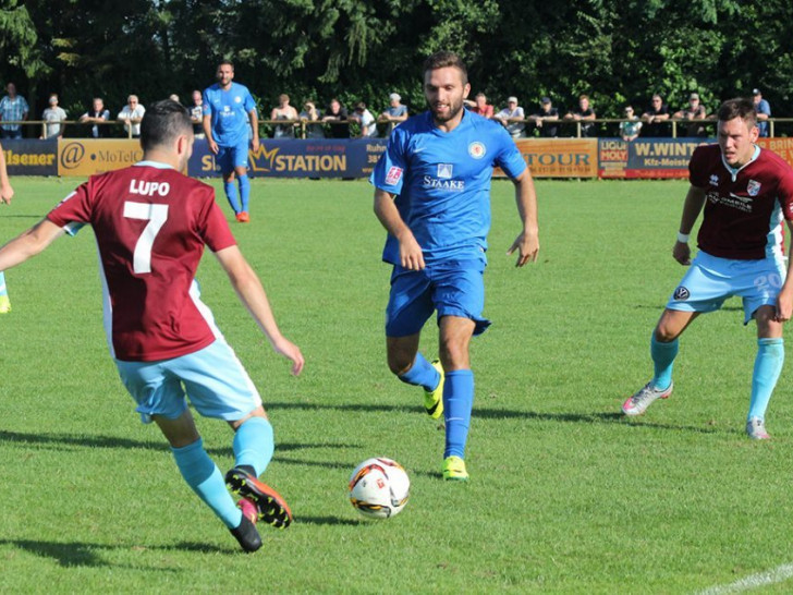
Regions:
M 276 353 L 280 353 L 292 361 L 292 374 L 297 376 L 305 364 L 303 354 L 300 348 L 289 341 L 278 329 L 265 288 L 261 287 L 261 281 L 251 268 L 240 248 L 229 246 L 219 250 L 215 253 L 215 256 L 229 276 L 231 286 L 240 296 L 240 301 L 248 309 L 256 324 L 259 325 L 272 349 L 276 350 Z

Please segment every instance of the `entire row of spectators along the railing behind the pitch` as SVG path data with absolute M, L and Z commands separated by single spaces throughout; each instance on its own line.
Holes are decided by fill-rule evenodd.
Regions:
M 7 95 L 0 99 L 0 137 L 2 138 L 22 138 L 22 125 L 10 122 L 24 122 L 28 119 L 29 107 L 24 97 L 16 93 L 16 86 L 9 83 L 5 86 Z M 760 136 L 768 136 L 769 125 L 768 118 L 771 116 L 771 107 L 768 101 L 762 98 L 760 89 L 753 89 L 755 109 L 759 120 Z M 179 100 L 179 97 L 171 96 Z M 203 97 L 200 90 L 193 92 L 193 105 L 190 107 L 194 130 L 197 137 L 204 135 L 202 127 L 203 120 Z M 58 95 L 51 94 L 47 109 L 41 113 L 41 120 L 45 122 L 40 138 L 53 138 L 63 136 L 65 125 L 63 122 L 68 118 L 68 113 L 58 105 Z M 524 136 L 540 136 L 544 138 L 552 138 L 559 136 L 560 122 L 577 122 L 582 136 L 595 136 L 597 131 L 595 120 L 597 118 L 587 95 L 578 97 L 578 105 L 564 113 L 560 114 L 559 109 L 553 106 L 550 97 L 542 97 L 536 111 L 526 116 L 524 109 L 518 106 L 517 97 L 511 96 L 507 99 L 507 107 L 496 112 L 492 105 L 487 102 L 484 93 L 478 93 L 473 100 L 466 100 L 466 109 L 472 112 L 493 119 L 507 129 L 514 138 Z M 119 111 L 115 120 L 124 124 L 124 130 L 132 136 L 141 134 L 141 120 L 146 109 L 141 105 L 136 95 L 130 95 L 126 105 Z M 274 138 L 294 138 L 297 134 L 298 126 L 305 126 L 306 138 L 349 138 L 351 136 L 350 123 L 357 124 L 359 136 L 374 137 L 378 135 L 378 123 L 386 124 L 383 133 L 386 136 L 391 132 L 393 126 L 407 119 L 407 107 L 402 104 L 402 97 L 398 93 L 389 96 L 389 108 L 386 109 L 378 118 L 375 118 L 364 101 L 358 101 L 353 107 L 352 112 L 344 107 L 337 98 L 332 98 L 324 112 L 320 112 L 314 101 L 305 101 L 303 109 L 297 109 L 290 105 L 289 95 L 282 94 L 278 98 L 278 106 L 272 108 L 270 120 L 283 121 L 283 123 L 273 124 Z M 634 106 L 629 104 L 624 106 L 622 113 L 624 120 L 620 122 L 619 132 L 624 141 L 634 141 L 639 135 L 648 137 L 669 136 L 671 126 L 668 121 L 675 120 L 685 122 L 684 134 L 681 136 L 701 137 L 708 135 L 708 130 L 704 125 L 706 121 L 712 120 L 712 114 L 708 114 L 707 109 L 699 99 L 698 93 L 692 93 L 688 96 L 688 102 L 682 109 L 670 113 L 669 106 L 663 102 L 663 97 L 659 94 L 652 95 L 650 105 L 639 116 Z M 9 122 L 9 123 L 7 123 Z M 101 138 L 109 133 L 108 126 L 102 125 L 105 122 L 112 122 L 110 111 L 105 108 L 101 97 L 95 97 L 91 108 L 78 118 L 78 122 L 90 124 L 90 136 Z

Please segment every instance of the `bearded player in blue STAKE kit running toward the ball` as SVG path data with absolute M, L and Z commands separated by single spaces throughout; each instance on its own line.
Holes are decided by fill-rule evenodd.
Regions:
M 474 401 L 468 344 L 490 325 L 483 317 L 490 179 L 499 166 L 515 185 L 523 230 L 508 254 L 516 266 L 539 252 L 537 198 L 532 174 L 514 142 L 497 122 L 463 109 L 467 70 L 440 51 L 424 63 L 429 111 L 394 129 L 370 182 L 375 212 L 388 231 L 382 258 L 393 265 L 386 312 L 389 368 L 420 386 L 424 406 L 444 415 L 444 479 L 466 481 L 465 444 Z M 440 361 L 418 352 L 424 324 L 437 311 Z

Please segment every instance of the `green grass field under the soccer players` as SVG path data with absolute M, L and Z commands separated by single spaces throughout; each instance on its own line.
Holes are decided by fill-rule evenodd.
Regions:
M 14 184 L 0 242 L 76 181 Z M 740 302 L 688 329 L 669 401 L 638 420 L 619 414 L 650 376 L 650 330 L 684 270 L 671 247 L 686 184 L 537 185 L 540 258 L 515 269 L 504 254 L 518 232 L 512 185 L 493 184 L 495 324 L 472 349 L 472 481 L 448 485 L 442 428 L 385 363 L 389 268 L 370 187 L 254 181 L 253 222 L 233 230 L 306 355 L 303 376 L 289 375 L 213 258 L 199 270 L 276 428 L 265 481 L 296 518 L 284 532 L 263 527 L 253 556 L 133 412 L 107 353 L 91 232 L 8 271 L 0 592 L 733 593 L 793 562 L 790 364 L 769 409 L 773 440 L 751 442 L 756 343 Z M 431 323 L 423 350 L 437 355 Z M 228 469 L 231 432 L 198 423 Z M 346 500 L 350 472 L 371 456 L 412 479 L 411 501 L 388 521 Z M 786 576 L 766 592 L 789 592 Z

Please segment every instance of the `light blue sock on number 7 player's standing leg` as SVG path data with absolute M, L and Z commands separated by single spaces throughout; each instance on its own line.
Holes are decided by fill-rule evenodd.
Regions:
M 171 451 L 182 477 L 193 491 L 215 511 L 225 526 L 229 529 L 240 526 L 242 512 L 225 489 L 225 482 L 220 475 L 218 465 L 204 450 L 204 440 L 198 438 L 192 445 L 171 448 Z

